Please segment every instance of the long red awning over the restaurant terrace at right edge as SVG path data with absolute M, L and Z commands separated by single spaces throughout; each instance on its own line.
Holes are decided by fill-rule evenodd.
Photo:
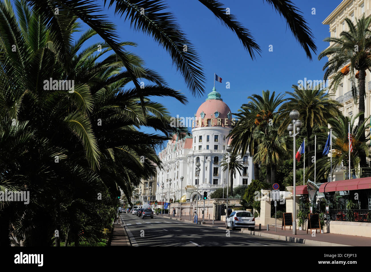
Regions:
M 326 182 L 319 187 L 319 192 L 339 192 L 361 189 L 371 189 L 371 177 Z

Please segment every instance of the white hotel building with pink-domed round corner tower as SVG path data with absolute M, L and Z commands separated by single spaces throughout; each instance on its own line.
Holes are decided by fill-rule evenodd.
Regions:
M 197 185 L 200 199 L 204 191 L 209 198 L 215 189 L 227 188 L 227 171 L 222 171 L 221 162 L 227 154 L 226 147 L 230 142 L 227 135 L 234 118 L 215 87 L 194 117 L 197 121 L 192 124 L 192 136 L 174 135 L 158 154 L 164 169 L 157 168 L 157 201 L 168 202 L 170 198 L 175 201 L 181 197 L 182 202 L 193 201 L 197 199 Z M 233 187 L 248 185 L 253 179 L 252 157 L 246 153 L 242 159 L 244 170 L 241 175 L 236 171 Z M 197 162 L 201 164 L 199 177 Z M 184 177 L 182 190 L 180 177 Z

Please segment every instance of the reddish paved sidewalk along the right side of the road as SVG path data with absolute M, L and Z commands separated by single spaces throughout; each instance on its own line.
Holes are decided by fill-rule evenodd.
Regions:
M 158 215 L 160 216 L 160 215 Z M 169 218 L 169 216 L 165 215 L 165 218 Z M 172 220 L 180 220 L 179 216 L 173 218 L 170 216 Z M 187 223 L 193 223 L 189 221 L 188 216 L 182 216 L 182 221 Z M 198 221 L 202 222 L 202 217 L 198 218 Z M 210 226 L 210 227 L 217 227 L 220 229 L 226 229 L 226 223 L 224 221 L 213 221 L 205 219 L 205 224 L 203 226 Z M 269 226 L 269 231 L 266 230 L 266 226 L 262 226 L 261 231 L 259 231 L 259 226 L 255 226 L 255 231 L 249 231 L 249 229 L 241 229 L 239 232 L 250 234 L 250 235 L 257 235 L 266 238 L 278 239 L 282 241 L 290 241 L 299 244 L 311 245 L 311 246 L 371 246 L 371 238 L 364 237 L 364 236 L 353 236 L 353 235 L 342 235 L 342 234 L 332 234 L 332 233 L 316 233 L 315 237 L 312 237 L 311 233 L 306 231 L 299 231 L 296 230 L 296 235 L 292 234 L 291 230 L 286 227 L 286 231 L 284 229 L 281 230 L 281 226 L 277 226 L 277 232 L 275 232 L 274 226 Z

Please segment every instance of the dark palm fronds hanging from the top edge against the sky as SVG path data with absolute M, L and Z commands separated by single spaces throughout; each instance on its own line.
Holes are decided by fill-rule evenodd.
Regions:
M 302 15 L 299 14 L 298 8 L 290 0 L 265 1 L 287 21 L 292 34 L 305 50 L 306 56 L 312 59 L 311 50 L 315 51 L 316 46 L 313 42 L 311 29 L 307 26 Z M 65 27 L 65 23 L 60 21 L 59 18 L 66 14 L 74 14 L 96 31 L 127 68 L 129 77 L 134 82 L 141 102 L 143 102 L 135 72 L 129 65 L 128 55 L 116 41 L 118 34 L 115 25 L 107 20 L 106 15 L 104 15 L 104 7 L 93 4 L 91 1 L 26 0 L 25 2 L 29 3 L 55 31 Z M 256 44 L 250 31 L 236 20 L 236 16 L 227 14 L 221 2 L 217 0 L 199 0 L 199 2 L 209 9 L 224 26 L 237 35 L 253 60 L 255 59 L 255 53 L 260 54 L 260 47 Z M 200 95 L 204 92 L 205 77 L 200 58 L 194 49 L 195 47 L 192 46 L 193 43 L 186 38 L 173 14 L 167 11 L 168 6 L 163 1 L 111 0 L 104 1 L 104 3 L 108 9 L 114 8 L 115 15 L 120 16 L 124 21 L 128 21 L 132 29 L 152 36 L 170 54 L 175 67 L 183 75 L 184 81 L 192 94 Z M 49 8 L 46 9 L 45 7 Z M 56 9 L 58 9 L 57 16 L 55 14 Z M 56 38 L 58 43 L 65 43 L 64 36 Z M 186 51 L 183 51 L 184 45 L 187 45 Z M 67 52 L 66 48 L 62 49 Z M 63 61 L 68 65 L 69 60 L 70 56 L 67 54 Z

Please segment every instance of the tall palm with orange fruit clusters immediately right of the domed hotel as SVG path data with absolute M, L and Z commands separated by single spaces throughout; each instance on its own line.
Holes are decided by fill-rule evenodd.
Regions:
M 279 114 L 277 111 L 279 105 L 284 101 L 283 95 L 275 96 L 275 92 L 272 94 L 269 90 L 263 91 L 262 95 L 254 94 L 247 97 L 250 101 L 247 104 L 243 104 L 238 113 L 234 113 L 237 116 L 238 121 L 229 134 L 232 138 L 231 146 L 234 154 L 241 152 L 243 156 L 247 148 L 250 150 L 250 154 L 256 155 L 257 149 L 260 144 L 259 137 L 253 137 L 255 131 L 263 131 L 267 135 L 267 128 L 274 124 L 274 116 Z M 254 175 L 259 176 L 259 162 L 254 163 Z M 270 165 L 267 165 L 267 179 L 270 180 L 271 170 Z

